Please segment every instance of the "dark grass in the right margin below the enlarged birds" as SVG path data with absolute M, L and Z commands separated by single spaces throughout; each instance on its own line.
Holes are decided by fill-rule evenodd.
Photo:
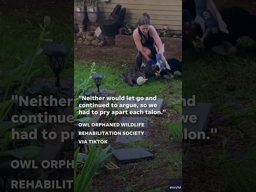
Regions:
M 191 153 L 190 157 L 206 162 L 207 167 L 219 175 L 212 182 L 221 183 L 225 191 L 237 192 L 255 189 L 255 184 L 250 183 L 255 173 L 255 166 L 252 165 L 252 155 L 255 157 L 255 154 L 248 152 L 246 160 L 236 160 L 232 152 L 239 150 L 240 143 L 254 138 L 256 134 L 252 128 L 256 123 L 255 43 L 248 38 L 241 38 L 238 49 L 236 56 L 229 57 L 207 51 L 183 52 L 182 85 L 183 98 L 196 95 L 197 102 L 212 103 L 212 120 L 218 115 L 228 116 L 228 121 L 216 127 L 218 134 L 212 136 L 212 142 L 204 146 L 204 153 L 198 150 L 199 153 Z M 241 134 L 228 138 L 236 130 L 240 130 Z M 223 148 L 222 144 L 227 140 L 230 144 Z M 211 155 L 208 157 L 208 154 Z M 214 190 L 213 186 L 207 190 Z

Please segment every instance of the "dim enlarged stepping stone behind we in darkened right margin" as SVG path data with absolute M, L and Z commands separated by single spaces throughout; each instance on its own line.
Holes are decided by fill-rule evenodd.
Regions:
M 208 120 L 210 118 L 210 111 L 211 111 L 212 104 L 196 102 L 195 105 L 196 106 L 182 107 L 182 115 L 184 116 L 184 118 L 186 118 L 186 116 L 188 116 L 187 122 L 182 123 L 182 132 L 183 132 L 184 139 L 189 139 L 188 134 L 190 132 L 195 132 L 196 135 L 199 136 L 200 133 L 198 134 L 198 132 L 206 131 Z M 197 117 L 196 123 L 190 122 L 189 117 L 192 115 L 195 115 Z M 192 136 L 193 136 L 193 134 L 192 134 Z M 202 137 L 202 135 L 200 135 L 200 136 Z M 196 138 L 196 140 L 198 140 L 198 137 Z M 200 140 L 202 140 L 202 138 Z

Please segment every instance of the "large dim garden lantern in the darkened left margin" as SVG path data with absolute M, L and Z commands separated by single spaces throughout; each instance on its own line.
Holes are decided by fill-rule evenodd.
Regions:
M 60 72 L 64 66 L 64 58 L 68 53 L 68 48 L 62 44 L 52 44 L 44 49 L 44 54 L 48 56 L 50 66 L 55 74 L 56 87 L 60 87 Z

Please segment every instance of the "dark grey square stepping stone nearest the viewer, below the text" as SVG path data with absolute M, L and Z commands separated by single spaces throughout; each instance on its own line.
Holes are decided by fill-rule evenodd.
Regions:
M 152 160 L 154 155 L 142 147 L 111 150 L 119 163 L 133 163 L 143 160 Z

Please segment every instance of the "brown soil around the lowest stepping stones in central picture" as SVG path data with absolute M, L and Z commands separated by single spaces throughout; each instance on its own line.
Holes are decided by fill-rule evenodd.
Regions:
M 154 118 L 153 116 L 148 117 L 153 119 L 154 126 L 148 127 L 146 131 L 149 132 L 149 135 L 141 143 L 145 144 L 142 146 L 143 148 L 154 154 L 154 160 L 129 164 L 119 164 L 114 158 L 112 158 L 111 161 L 120 167 L 120 173 L 113 175 L 105 173 L 100 176 L 96 176 L 96 178 L 93 180 L 90 192 L 103 190 L 104 192 L 112 192 L 113 189 L 115 191 L 125 191 L 126 188 L 133 185 L 137 185 L 134 186 L 133 191 L 142 191 L 144 188 L 155 189 L 168 186 L 168 178 L 181 176 L 181 167 L 178 168 L 174 166 L 175 163 L 178 162 L 170 160 L 168 156 L 168 154 L 174 154 L 177 155 L 181 160 L 181 145 L 172 142 L 170 138 L 165 140 L 164 138 L 168 138 L 168 133 L 163 126 L 160 126 L 161 122 L 167 120 L 167 118 Z M 121 118 L 122 116 L 116 116 L 115 122 L 120 122 Z M 101 122 L 110 123 L 111 121 L 105 118 Z M 99 127 L 95 131 L 102 131 L 103 129 L 104 131 L 117 131 L 120 128 Z M 144 129 L 136 130 L 145 131 Z M 103 137 L 104 139 L 108 139 L 108 144 L 111 144 L 114 149 L 135 147 L 131 146 L 131 144 L 115 143 L 116 136 Z M 134 142 L 134 144 L 136 143 L 138 142 Z M 105 144 L 103 148 L 108 146 L 108 144 Z M 180 166 L 182 165 L 180 164 Z M 143 184 L 138 186 L 142 180 Z

